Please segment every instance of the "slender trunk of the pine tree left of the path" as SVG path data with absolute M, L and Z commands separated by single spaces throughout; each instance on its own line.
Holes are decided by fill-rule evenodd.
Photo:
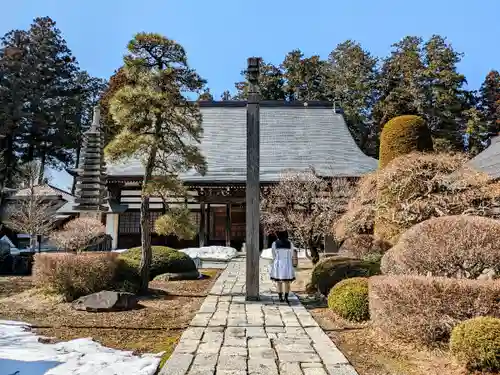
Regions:
M 146 168 L 144 170 L 144 180 L 142 181 L 142 199 L 141 199 L 141 264 L 139 273 L 141 275 L 141 285 L 139 292 L 146 294 L 149 285 L 149 267 L 151 266 L 151 228 L 149 226 L 149 196 L 146 192 L 147 184 L 153 177 L 153 167 L 156 159 L 157 146 L 151 148 L 148 156 Z

